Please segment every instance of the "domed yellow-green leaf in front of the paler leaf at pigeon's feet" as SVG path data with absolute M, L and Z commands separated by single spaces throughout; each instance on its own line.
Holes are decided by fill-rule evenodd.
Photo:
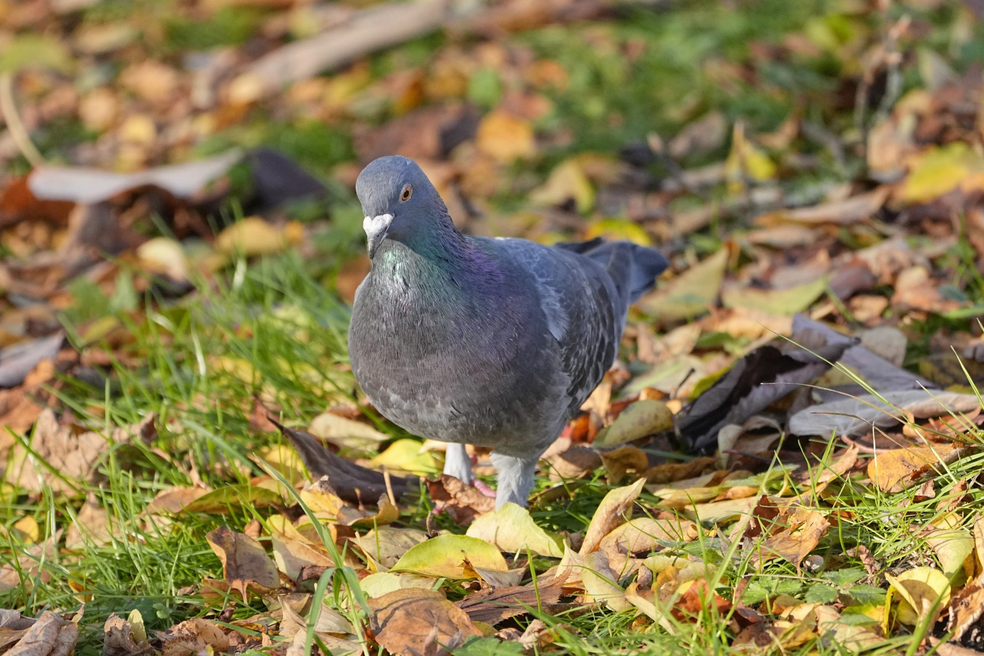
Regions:
M 439 535 L 411 547 L 390 570 L 461 580 L 478 578 L 474 567 L 496 571 L 509 569 L 499 550 L 484 540 L 463 535 Z

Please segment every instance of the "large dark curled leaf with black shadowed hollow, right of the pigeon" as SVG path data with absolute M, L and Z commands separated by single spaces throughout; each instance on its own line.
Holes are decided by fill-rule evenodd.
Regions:
M 795 391 L 795 385 L 814 380 L 854 343 L 830 343 L 820 333 L 807 329 L 794 332 L 791 342 L 776 340 L 759 347 L 737 361 L 680 412 L 677 432 L 693 451 L 712 451 L 717 444 L 717 432 L 723 426 L 743 424 Z

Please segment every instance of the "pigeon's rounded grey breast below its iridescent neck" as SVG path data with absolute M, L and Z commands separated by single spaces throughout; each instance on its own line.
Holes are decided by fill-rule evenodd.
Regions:
M 566 381 L 556 341 L 528 309 L 522 295 L 369 286 L 352 311 L 352 371 L 373 406 L 414 434 L 485 446 L 545 439 L 566 420 Z

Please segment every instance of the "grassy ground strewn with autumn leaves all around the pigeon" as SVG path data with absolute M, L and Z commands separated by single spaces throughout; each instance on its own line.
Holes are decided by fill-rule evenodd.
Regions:
M 0 651 L 984 650 L 980 3 L 415 6 L 0 0 Z M 393 153 L 670 260 L 528 509 L 347 367 Z

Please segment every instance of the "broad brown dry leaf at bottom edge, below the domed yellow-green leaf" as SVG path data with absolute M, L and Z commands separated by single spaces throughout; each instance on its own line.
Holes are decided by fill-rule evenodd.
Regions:
M 369 600 L 376 641 L 394 654 L 446 654 L 481 635 L 468 615 L 440 592 L 395 590 Z

